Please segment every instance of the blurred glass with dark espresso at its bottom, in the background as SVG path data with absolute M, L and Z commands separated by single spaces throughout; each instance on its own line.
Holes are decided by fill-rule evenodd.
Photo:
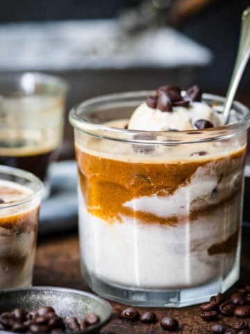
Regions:
M 0 164 L 22 168 L 44 182 L 63 141 L 67 84 L 36 72 L 0 75 Z

